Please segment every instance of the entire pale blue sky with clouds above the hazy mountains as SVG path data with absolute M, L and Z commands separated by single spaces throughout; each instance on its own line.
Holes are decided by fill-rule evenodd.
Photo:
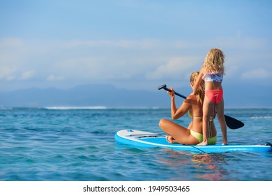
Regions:
M 0 0 L 0 92 L 185 88 L 219 48 L 226 90 L 272 98 L 271 10 L 269 0 Z

